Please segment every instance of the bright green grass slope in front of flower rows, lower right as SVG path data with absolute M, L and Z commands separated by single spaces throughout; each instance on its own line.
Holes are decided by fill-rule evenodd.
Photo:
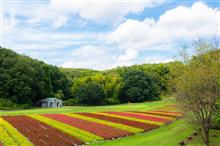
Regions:
M 113 141 L 105 141 L 90 146 L 178 146 L 179 142 L 186 141 L 190 146 L 203 146 L 200 136 L 193 136 L 192 140 L 187 137 L 192 135 L 193 128 L 183 119 L 164 125 L 147 133 L 140 133 L 135 136 L 125 137 Z M 213 137 L 216 134 L 217 137 Z M 211 130 L 210 145 L 220 144 L 220 130 Z

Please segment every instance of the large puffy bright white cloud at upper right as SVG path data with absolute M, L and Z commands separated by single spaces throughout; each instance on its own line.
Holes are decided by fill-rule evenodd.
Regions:
M 128 19 L 106 36 L 106 41 L 116 43 L 119 48 L 152 50 L 157 46 L 175 44 L 196 37 L 218 35 L 220 11 L 209 8 L 202 2 L 192 7 L 178 6 L 167 11 L 158 20 L 146 18 L 143 21 Z

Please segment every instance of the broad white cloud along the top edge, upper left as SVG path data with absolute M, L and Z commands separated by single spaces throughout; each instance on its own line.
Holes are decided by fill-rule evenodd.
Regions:
M 75 15 L 99 23 L 119 23 L 129 13 L 142 12 L 146 7 L 159 5 L 164 1 L 50 0 L 48 2 L 27 2 L 17 0 L 13 2 L 4 1 L 3 13 L 25 17 L 26 20 L 22 21 L 29 26 L 42 26 L 46 23 L 53 29 L 58 29 L 65 26 L 68 20 Z M 18 19 L 14 18 L 8 21 L 5 25 L 7 27 L 5 32 L 11 32 L 17 26 L 16 20 Z

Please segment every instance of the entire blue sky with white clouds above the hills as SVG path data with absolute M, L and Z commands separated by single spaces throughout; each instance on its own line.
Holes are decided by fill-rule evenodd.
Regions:
M 1 46 L 75 68 L 169 62 L 220 34 L 217 0 L 0 0 Z

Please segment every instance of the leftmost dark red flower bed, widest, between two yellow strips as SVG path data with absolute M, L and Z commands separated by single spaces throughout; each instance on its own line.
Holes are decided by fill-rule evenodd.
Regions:
M 26 116 L 3 117 L 36 146 L 70 146 L 83 144 L 73 136 Z

